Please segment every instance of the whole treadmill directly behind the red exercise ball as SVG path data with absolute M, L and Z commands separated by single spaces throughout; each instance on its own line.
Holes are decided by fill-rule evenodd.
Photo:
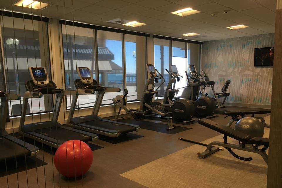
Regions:
M 97 135 L 63 126 L 58 122 L 58 116 L 64 96 L 77 95 L 75 90 L 64 90 L 57 88 L 56 84 L 49 80 L 44 67 L 29 67 L 32 80 L 26 82 L 26 93 L 24 93 L 22 114 L 19 133 L 43 144 L 58 148 L 68 140 L 81 140 L 83 142 L 97 140 Z M 26 108 L 29 98 L 41 98 L 43 95 L 55 94 L 55 105 L 53 107 L 50 121 L 33 122 L 24 124 Z

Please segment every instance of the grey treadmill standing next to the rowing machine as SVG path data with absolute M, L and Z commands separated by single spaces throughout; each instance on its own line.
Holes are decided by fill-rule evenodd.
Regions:
M 78 95 L 73 95 L 67 125 L 108 137 L 118 137 L 121 134 L 140 130 L 139 125 L 105 120 L 99 117 L 98 113 L 104 94 L 108 92 L 120 92 L 120 88 L 108 88 L 99 85 L 96 80 L 93 80 L 92 74 L 87 67 L 78 67 L 77 72 L 80 79 L 75 80 L 74 83 L 77 88 L 78 95 L 90 95 L 94 94 L 96 91 L 98 92 L 98 96 L 95 100 L 95 105 L 91 115 L 73 117 L 75 105 L 78 100 Z

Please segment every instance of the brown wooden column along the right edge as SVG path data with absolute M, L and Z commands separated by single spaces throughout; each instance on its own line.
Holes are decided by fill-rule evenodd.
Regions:
M 267 187 L 282 187 L 282 0 L 277 0 Z

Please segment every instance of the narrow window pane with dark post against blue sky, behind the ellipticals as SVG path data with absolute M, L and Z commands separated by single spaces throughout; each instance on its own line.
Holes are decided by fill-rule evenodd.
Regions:
M 155 68 L 163 75 L 165 79 L 165 83 L 159 88 L 158 94 L 159 96 L 164 96 L 165 89 L 167 87 L 167 83 L 169 80 L 169 74 L 167 70 L 169 70 L 169 40 L 155 38 L 154 40 L 154 51 L 155 51 Z M 157 89 L 162 81 L 159 83 L 155 83 L 155 89 Z

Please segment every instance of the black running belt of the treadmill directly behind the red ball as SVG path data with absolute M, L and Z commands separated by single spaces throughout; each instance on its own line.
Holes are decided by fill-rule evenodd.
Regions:
M 78 132 L 67 130 L 67 129 L 60 128 L 60 127 L 48 127 L 44 129 L 37 129 L 37 130 L 34 130 L 34 132 L 37 132 L 39 134 L 42 134 L 48 137 L 52 137 L 53 139 L 56 139 L 56 140 L 63 140 L 63 141 L 81 140 L 83 142 L 92 141 L 92 138 L 90 136 L 80 134 Z

